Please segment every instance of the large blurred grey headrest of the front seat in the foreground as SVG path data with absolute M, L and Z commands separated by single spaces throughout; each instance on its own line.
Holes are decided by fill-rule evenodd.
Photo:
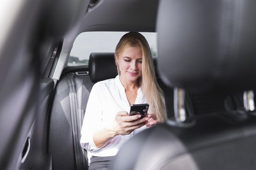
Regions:
M 160 0 L 157 68 L 189 91 L 256 87 L 254 0 Z

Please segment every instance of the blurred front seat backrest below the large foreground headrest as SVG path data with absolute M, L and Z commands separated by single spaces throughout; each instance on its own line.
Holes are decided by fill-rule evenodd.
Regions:
M 212 113 L 191 127 L 154 126 L 130 139 L 111 170 L 254 170 L 256 116 Z

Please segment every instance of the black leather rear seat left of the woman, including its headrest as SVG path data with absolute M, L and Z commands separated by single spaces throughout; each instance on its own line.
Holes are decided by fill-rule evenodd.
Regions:
M 53 170 L 75 170 L 77 169 L 77 157 L 87 159 L 84 155 L 76 155 L 74 151 L 74 136 L 71 126 L 72 113 L 70 111 L 69 87 L 67 84 L 67 79 L 70 77 L 67 74 L 70 73 L 62 75 L 56 86 L 49 115 L 47 152 L 52 154 Z M 72 76 L 74 77 L 78 106 L 78 113 L 76 114 L 80 117 L 78 123 L 81 129 L 81 122 L 92 86 L 98 81 L 117 76 L 114 53 L 91 53 L 88 68 L 74 72 Z M 80 146 L 80 141 L 78 141 L 78 145 Z M 84 167 L 84 169 L 86 168 Z

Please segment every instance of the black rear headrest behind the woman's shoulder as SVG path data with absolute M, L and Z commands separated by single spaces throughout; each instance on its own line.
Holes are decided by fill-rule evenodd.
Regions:
M 91 53 L 88 67 L 90 79 L 94 83 L 115 78 L 118 75 L 115 53 Z

